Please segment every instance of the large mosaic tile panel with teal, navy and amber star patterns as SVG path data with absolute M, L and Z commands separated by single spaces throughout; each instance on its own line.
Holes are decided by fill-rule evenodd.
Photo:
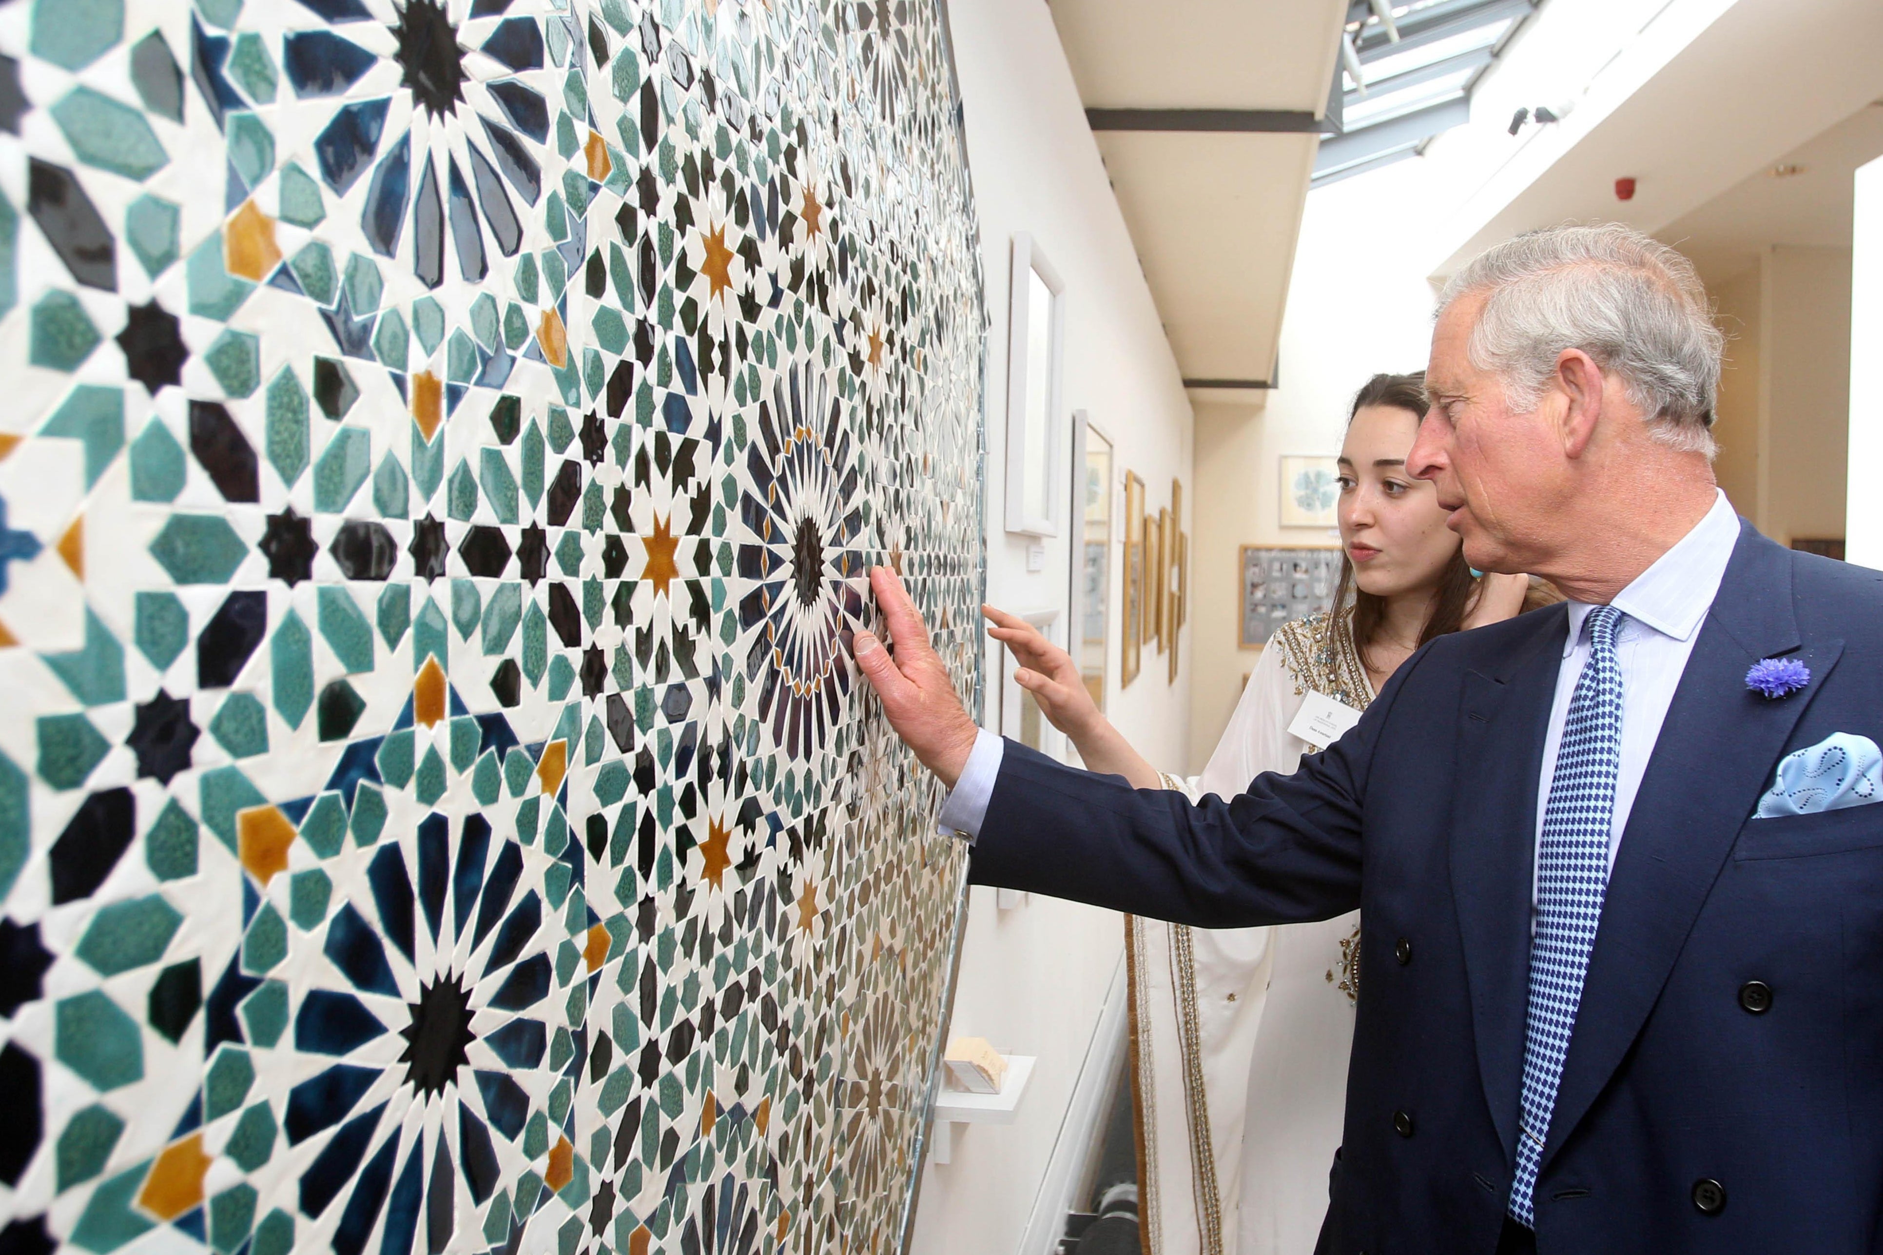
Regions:
M 891 562 L 979 675 L 936 6 L 0 53 L 0 1251 L 896 1249 L 962 856 L 842 637 Z

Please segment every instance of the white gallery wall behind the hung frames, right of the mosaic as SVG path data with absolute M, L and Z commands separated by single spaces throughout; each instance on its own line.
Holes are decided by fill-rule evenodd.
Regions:
M 968 160 L 989 294 L 987 541 L 989 601 L 1015 612 L 1058 611 L 1070 599 L 1066 518 L 1070 441 L 1054 475 L 1060 533 L 1045 541 L 1038 571 L 1030 537 L 1006 518 L 1009 251 L 1026 232 L 1064 281 L 1064 396 L 1071 411 L 1115 443 L 1115 471 L 1137 471 L 1154 514 L 1171 479 L 1190 494 L 1190 403 L 1145 286 L 1079 92 L 1045 4 L 951 0 Z M 1186 514 L 1188 514 L 1186 507 Z M 1188 522 L 1186 522 L 1188 526 Z M 1181 769 L 1190 729 L 1190 661 L 1175 682 L 1167 658 L 1149 650 L 1139 678 L 1119 690 L 1120 537 L 1109 579 L 1107 705 L 1151 761 Z M 1192 614 L 1194 622 L 1194 614 Z M 1188 635 L 1188 633 L 1186 633 Z M 1188 641 L 1184 641 L 1188 648 Z M 1000 716 L 1000 656 L 989 650 L 989 718 Z M 1017 727 L 1017 712 L 1006 729 Z M 1002 910 L 994 889 L 974 889 L 955 995 L 953 1035 L 985 1036 L 1036 1055 L 1032 1082 L 1011 1125 L 957 1125 L 947 1165 L 930 1159 L 911 1249 L 917 1255 L 1053 1249 L 1047 1227 L 1028 1234 L 1079 1067 L 1124 950 L 1117 914 L 1043 897 Z M 1047 1208 L 1051 1210 L 1051 1208 Z M 1056 1229 L 1051 1232 L 1056 1238 Z M 1041 1246 L 1043 1242 L 1043 1246 Z

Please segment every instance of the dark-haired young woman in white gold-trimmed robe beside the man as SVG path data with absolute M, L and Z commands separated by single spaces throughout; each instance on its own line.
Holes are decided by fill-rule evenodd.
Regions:
M 1557 599 L 1521 575 L 1473 577 L 1433 486 L 1407 475 L 1424 415 L 1424 375 L 1375 375 L 1354 398 L 1335 609 L 1277 629 L 1201 776 L 1158 773 L 1098 712 L 1064 650 L 985 607 L 1021 663 L 1015 680 L 1088 769 L 1233 797 L 1324 748 L 1292 729 L 1311 692 L 1358 718 L 1425 641 Z M 1130 918 L 1126 942 L 1147 1251 L 1309 1255 L 1341 1146 L 1360 912 L 1222 931 Z

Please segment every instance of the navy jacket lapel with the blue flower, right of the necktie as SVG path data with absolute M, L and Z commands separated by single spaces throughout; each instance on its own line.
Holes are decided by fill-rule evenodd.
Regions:
M 1574 1133 L 1653 1010 L 1740 827 L 1842 648 L 1842 641 L 1800 648 L 1791 554 L 1746 526 L 1616 854 L 1544 1165 Z M 1747 692 L 1746 669 L 1781 654 L 1810 665 L 1810 688 L 1781 701 Z

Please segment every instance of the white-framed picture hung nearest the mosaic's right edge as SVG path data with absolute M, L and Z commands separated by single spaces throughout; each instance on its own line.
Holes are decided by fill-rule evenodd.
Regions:
M 1066 285 L 1032 236 L 1013 237 L 1007 322 L 1007 531 L 1058 535 Z

